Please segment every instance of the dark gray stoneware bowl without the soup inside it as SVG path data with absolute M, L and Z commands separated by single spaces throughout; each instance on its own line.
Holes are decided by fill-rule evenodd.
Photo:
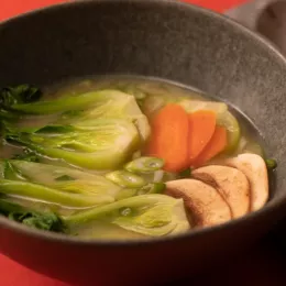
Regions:
M 177 1 L 78 1 L 0 24 L 0 86 L 132 74 L 194 86 L 243 110 L 278 160 L 266 207 L 216 228 L 150 241 L 79 241 L 0 218 L 0 251 L 75 285 L 150 285 L 234 255 L 286 209 L 286 62 L 231 20 Z

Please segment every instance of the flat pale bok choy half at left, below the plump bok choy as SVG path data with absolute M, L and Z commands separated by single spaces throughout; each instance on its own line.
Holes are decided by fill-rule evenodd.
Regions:
M 118 193 L 121 190 L 121 187 L 108 180 L 103 176 L 89 174 L 74 168 L 61 166 L 55 167 L 47 164 L 14 160 L 2 162 L 0 164 L 0 169 L 1 166 L 4 166 L 4 176 L 2 176 L 2 179 L 12 179 L 15 183 L 18 180 L 22 182 L 29 179 L 30 183 L 36 184 L 32 185 L 32 187 L 34 191 L 37 191 L 37 194 L 29 194 L 26 193 L 28 190 L 23 191 L 26 196 L 30 198 L 47 200 L 54 204 L 61 204 L 62 200 L 65 202 L 64 205 L 72 207 L 110 204 L 116 200 Z M 45 189 L 41 186 L 36 187 L 37 185 L 48 188 Z M 31 185 L 28 185 L 28 187 L 31 187 Z M 10 195 L 16 194 L 15 191 L 16 190 L 13 189 Z M 50 197 L 46 197 L 47 194 L 50 194 Z M 69 199 L 72 199 L 72 202 L 68 202 Z M 87 201 L 88 199 L 90 199 L 90 202 Z

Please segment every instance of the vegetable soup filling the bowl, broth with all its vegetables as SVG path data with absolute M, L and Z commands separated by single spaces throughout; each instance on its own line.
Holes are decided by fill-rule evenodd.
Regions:
M 88 239 L 179 234 L 268 199 L 258 132 L 235 108 L 160 79 L 1 91 L 0 213 Z M 267 164 L 266 164 L 267 163 Z

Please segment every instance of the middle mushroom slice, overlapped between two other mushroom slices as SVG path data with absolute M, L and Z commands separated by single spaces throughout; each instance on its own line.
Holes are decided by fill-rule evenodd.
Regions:
M 191 173 L 193 177 L 216 188 L 229 204 L 233 218 L 250 210 L 250 183 L 239 169 L 228 166 L 207 166 Z

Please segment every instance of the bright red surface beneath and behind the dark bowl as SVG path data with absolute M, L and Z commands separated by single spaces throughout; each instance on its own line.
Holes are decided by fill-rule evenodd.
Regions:
M 16 14 L 67 0 L 0 0 L 0 21 Z M 185 0 L 223 12 L 245 0 Z M 1 47 L 0 47 L 1 48 Z M 56 257 L 55 257 L 56 258 Z M 260 262 L 256 260 L 254 263 Z M 261 270 L 260 270 L 261 271 Z M 256 282 L 257 283 L 257 282 Z M 258 285 L 254 282 L 253 285 Z M 0 254 L 0 285 L 3 286 L 70 286 L 36 274 Z M 235 284 L 237 285 L 237 284 Z M 261 285 L 261 284 L 260 284 Z M 271 285 L 271 284 L 265 284 Z

